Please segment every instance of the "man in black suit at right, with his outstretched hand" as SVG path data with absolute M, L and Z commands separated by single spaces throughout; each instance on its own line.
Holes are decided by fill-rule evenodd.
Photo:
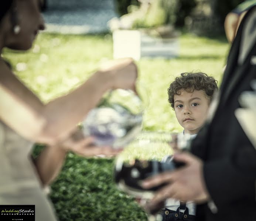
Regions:
M 252 91 L 256 79 L 256 6 L 245 15 L 232 44 L 222 85 L 205 126 L 192 143 L 191 154 L 174 160 L 186 166 L 143 183 L 168 183 L 149 203 L 168 197 L 197 203 L 197 220 L 256 220 L 256 150 L 235 116 L 239 96 Z M 256 113 L 255 113 L 256 114 Z M 255 122 L 256 124 L 256 122 Z M 256 133 L 256 131 L 255 131 Z

